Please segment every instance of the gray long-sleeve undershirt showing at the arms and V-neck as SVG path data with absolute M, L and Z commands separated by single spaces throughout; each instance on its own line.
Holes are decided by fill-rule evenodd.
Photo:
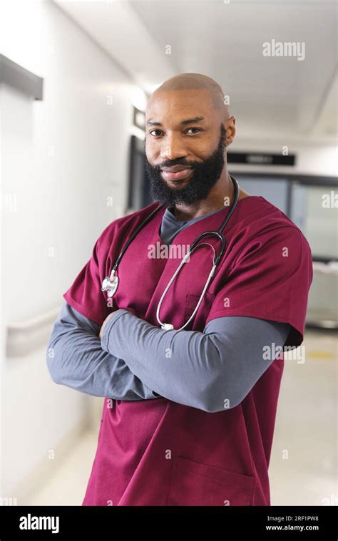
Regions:
M 170 244 L 180 230 L 203 217 L 182 222 L 167 209 L 161 239 Z M 108 321 L 101 342 L 101 327 L 63 304 L 47 348 L 55 383 L 116 400 L 163 396 L 204 411 L 221 411 L 225 403 L 232 408 L 245 398 L 274 360 L 265 360 L 263 348 L 283 346 L 290 331 L 289 324 L 245 316 L 214 319 L 203 333 L 163 331 L 127 311 L 119 313 L 124 317 Z M 118 325 L 123 325 L 123 334 Z M 170 359 L 165 357 L 168 349 Z

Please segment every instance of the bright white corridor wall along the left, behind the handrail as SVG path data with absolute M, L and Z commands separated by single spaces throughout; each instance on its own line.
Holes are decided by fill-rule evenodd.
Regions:
M 135 88 L 54 4 L 7 4 L 1 53 L 44 81 L 43 101 L 0 89 L 2 193 L 16 194 L 17 205 L 1 219 L 0 496 L 21 505 L 18 483 L 103 398 L 56 386 L 43 348 L 6 359 L 4 333 L 63 302 L 103 228 L 122 214 Z

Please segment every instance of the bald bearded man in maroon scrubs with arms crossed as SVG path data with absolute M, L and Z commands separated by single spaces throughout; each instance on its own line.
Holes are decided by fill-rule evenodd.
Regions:
M 235 118 L 222 88 L 183 73 L 150 96 L 145 155 L 155 202 L 114 220 L 63 294 L 47 356 L 53 381 L 105 396 L 83 505 L 270 505 L 268 466 L 284 366 L 303 341 L 312 258 L 302 232 L 240 190 L 227 247 L 205 238 L 158 304 L 180 261 L 151 257 L 217 230 L 234 200 L 225 151 Z M 132 232 L 113 299 L 101 283 Z M 211 244 L 211 247 L 210 247 Z

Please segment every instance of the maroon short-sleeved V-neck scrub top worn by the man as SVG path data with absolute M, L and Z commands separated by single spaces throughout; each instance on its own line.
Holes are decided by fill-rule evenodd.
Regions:
M 159 326 L 158 302 L 180 263 L 174 257 L 150 257 L 151 248 L 161 244 L 165 209 L 126 250 L 113 299 L 101 292 L 102 280 L 111 273 L 123 245 L 158 205 L 152 203 L 106 227 L 91 259 L 63 294 L 68 304 L 99 325 L 112 310 L 124 308 Z M 195 222 L 178 233 L 173 244 L 182 248 L 205 230 L 217 230 L 227 212 L 229 207 Z M 302 344 L 312 282 L 307 239 L 260 196 L 238 201 L 224 233 L 225 254 L 186 330 L 203 331 L 217 317 L 251 316 L 289 323 L 292 331 L 285 345 Z M 219 249 L 215 237 L 204 240 Z M 212 249 L 195 250 L 168 290 L 160 310 L 162 321 L 175 329 L 187 321 L 211 267 Z M 283 354 L 273 358 L 238 406 L 216 413 L 162 397 L 140 401 L 106 397 L 82 505 L 270 505 L 268 467 L 284 368 Z

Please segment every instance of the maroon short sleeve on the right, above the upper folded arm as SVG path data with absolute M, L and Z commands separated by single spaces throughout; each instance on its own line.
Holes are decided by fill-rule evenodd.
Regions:
M 297 227 L 255 235 L 216 291 L 206 324 L 224 316 L 289 323 L 292 329 L 285 346 L 297 347 L 304 339 L 312 276 L 311 250 Z

